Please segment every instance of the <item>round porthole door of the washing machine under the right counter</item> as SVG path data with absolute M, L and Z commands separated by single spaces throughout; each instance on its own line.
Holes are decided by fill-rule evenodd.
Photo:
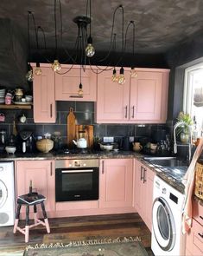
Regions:
M 175 243 L 175 223 L 168 202 L 162 197 L 156 198 L 152 209 L 153 232 L 155 240 L 163 251 L 171 251 Z

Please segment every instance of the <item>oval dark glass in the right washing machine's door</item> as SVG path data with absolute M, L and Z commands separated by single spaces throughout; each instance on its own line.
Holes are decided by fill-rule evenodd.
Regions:
M 157 223 L 159 227 L 159 231 L 164 240 L 168 240 L 169 238 L 169 223 L 168 223 L 168 215 L 164 209 L 164 207 L 160 206 L 157 209 Z

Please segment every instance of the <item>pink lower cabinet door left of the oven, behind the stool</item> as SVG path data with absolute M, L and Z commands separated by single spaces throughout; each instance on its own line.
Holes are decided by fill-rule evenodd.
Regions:
M 29 193 L 30 181 L 32 181 L 33 190 L 47 198 L 46 210 L 54 211 L 54 161 L 17 161 L 16 196 Z M 22 211 L 25 210 L 25 207 L 22 208 Z

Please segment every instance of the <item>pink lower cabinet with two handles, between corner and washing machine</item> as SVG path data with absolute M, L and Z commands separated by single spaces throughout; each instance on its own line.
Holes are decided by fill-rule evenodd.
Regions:
M 151 231 L 154 172 L 141 161 L 134 160 L 134 206 Z

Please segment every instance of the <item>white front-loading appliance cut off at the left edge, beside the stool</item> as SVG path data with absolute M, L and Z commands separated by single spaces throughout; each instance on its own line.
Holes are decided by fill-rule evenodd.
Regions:
M 15 188 L 13 161 L 0 162 L 0 226 L 14 225 Z

